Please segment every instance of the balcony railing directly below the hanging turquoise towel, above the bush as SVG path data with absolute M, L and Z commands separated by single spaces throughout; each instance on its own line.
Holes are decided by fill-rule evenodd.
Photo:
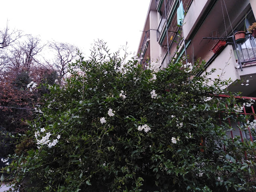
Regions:
M 166 55 L 164 56 L 164 60 L 162 61 L 161 68 L 166 68 L 172 58 L 175 56 L 176 51 L 178 50 L 178 47 L 180 46 L 180 43 L 182 42 L 183 39 L 183 33 L 182 33 L 182 28 L 179 27 L 178 31 L 176 32 L 174 38 L 172 39 L 172 42 L 169 46 L 169 54 L 170 56 L 168 57 L 168 51 Z M 170 59 L 170 60 L 169 60 Z

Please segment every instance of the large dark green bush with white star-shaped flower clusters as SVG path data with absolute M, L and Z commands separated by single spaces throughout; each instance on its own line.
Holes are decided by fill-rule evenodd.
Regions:
M 210 96 L 230 94 L 220 88 L 229 81 L 196 76 L 204 71 L 205 62 L 193 66 L 180 60 L 165 70 L 151 62 L 143 70 L 136 57 L 128 62 L 116 55 L 106 58 L 102 51 L 93 53 L 91 60 L 80 55 L 67 84 L 48 86 L 46 104 L 30 123 L 34 148 L 14 156 L 6 168 L 15 173 L 16 188 L 23 184 L 26 191 L 38 192 L 254 190 L 256 143 L 226 135 L 227 118 L 244 122 L 244 129 L 246 117 L 237 115 L 240 105 L 232 96 Z

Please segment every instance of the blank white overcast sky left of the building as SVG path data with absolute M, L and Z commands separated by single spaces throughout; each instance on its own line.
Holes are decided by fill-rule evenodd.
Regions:
M 128 42 L 136 52 L 150 0 L 2 0 L 0 28 L 10 28 L 42 40 L 74 44 L 88 56 L 94 39 L 115 52 Z

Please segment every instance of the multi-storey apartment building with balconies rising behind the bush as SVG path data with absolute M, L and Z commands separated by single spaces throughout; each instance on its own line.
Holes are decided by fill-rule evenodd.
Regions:
M 205 72 L 217 69 L 212 78 L 231 78 L 228 89 L 253 97 L 256 40 L 248 27 L 255 17 L 256 0 L 150 0 L 137 53 L 143 66 L 154 61 L 162 68 L 185 55 L 192 64 L 200 58 L 207 62 Z M 244 40 L 236 41 L 234 34 L 244 30 Z M 213 51 L 219 40 L 224 43 Z

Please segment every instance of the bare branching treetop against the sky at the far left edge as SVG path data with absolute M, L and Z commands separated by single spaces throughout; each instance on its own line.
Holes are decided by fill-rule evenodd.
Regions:
M 13 29 L 11 30 L 6 22 L 6 27 L 0 30 L 0 48 L 5 48 L 15 43 L 15 41 L 22 37 L 22 31 Z

